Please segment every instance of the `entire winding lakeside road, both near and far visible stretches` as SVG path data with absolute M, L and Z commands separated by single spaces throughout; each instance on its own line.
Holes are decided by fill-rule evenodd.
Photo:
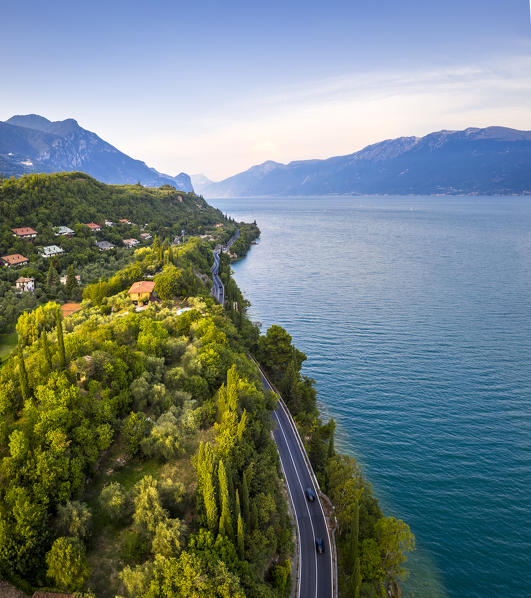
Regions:
M 238 238 L 239 230 L 227 243 L 230 248 Z M 219 255 L 221 246 L 212 252 L 212 295 L 223 305 L 225 288 L 219 278 Z M 257 364 L 258 365 L 258 364 Z M 258 366 L 260 367 L 260 366 Z M 293 574 L 297 577 L 297 598 L 334 598 L 334 572 L 332 551 L 327 522 L 320 500 L 319 488 L 311 469 L 310 462 L 304 450 L 291 415 L 282 398 L 273 388 L 264 372 L 260 369 L 262 384 L 265 390 L 271 390 L 279 397 L 278 406 L 271 417 L 274 420 L 273 437 L 275 439 L 280 463 L 288 488 L 290 502 L 293 508 L 297 527 L 297 570 Z M 315 495 L 313 502 L 306 497 L 306 489 L 311 489 Z M 316 550 L 316 539 L 323 542 L 324 552 Z

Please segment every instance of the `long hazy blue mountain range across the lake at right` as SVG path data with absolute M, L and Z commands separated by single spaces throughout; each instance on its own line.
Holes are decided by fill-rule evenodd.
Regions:
M 531 194 L 531 132 L 505 127 L 400 137 L 327 160 L 264 162 L 201 185 L 205 197 Z

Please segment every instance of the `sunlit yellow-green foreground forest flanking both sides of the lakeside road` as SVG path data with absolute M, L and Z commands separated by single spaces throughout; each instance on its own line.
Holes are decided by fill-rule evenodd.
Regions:
M 28 593 L 289 595 L 276 397 L 263 392 L 254 355 L 335 506 L 340 595 L 399 594 L 414 538 L 335 450 L 305 355 L 279 326 L 259 334 L 227 254 L 227 304 L 210 297 L 211 249 L 235 229 L 223 222 L 215 240 L 174 246 L 159 231 L 112 276 L 78 289 L 83 309 L 65 320 L 53 301 L 19 317 L 18 349 L 0 370 L 0 576 Z M 257 235 L 241 225 L 239 251 Z M 139 310 L 127 289 L 143 279 L 159 299 Z

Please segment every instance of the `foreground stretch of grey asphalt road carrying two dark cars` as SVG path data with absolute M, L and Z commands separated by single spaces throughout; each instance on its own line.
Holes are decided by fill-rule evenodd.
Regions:
M 273 390 L 264 376 L 265 389 Z M 332 553 L 326 520 L 314 486 L 308 464 L 281 403 L 273 412 L 273 436 L 277 444 L 282 470 L 295 511 L 300 545 L 300 581 L 297 596 L 301 598 L 332 598 Z M 311 488 L 316 499 L 306 498 L 306 488 Z M 324 553 L 318 554 L 315 539 L 321 538 Z M 295 571 L 293 571 L 295 574 Z

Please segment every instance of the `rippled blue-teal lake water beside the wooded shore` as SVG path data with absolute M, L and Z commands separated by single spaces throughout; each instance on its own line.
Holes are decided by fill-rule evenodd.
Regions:
M 531 199 L 215 200 L 338 445 L 417 537 L 406 595 L 530 596 Z

